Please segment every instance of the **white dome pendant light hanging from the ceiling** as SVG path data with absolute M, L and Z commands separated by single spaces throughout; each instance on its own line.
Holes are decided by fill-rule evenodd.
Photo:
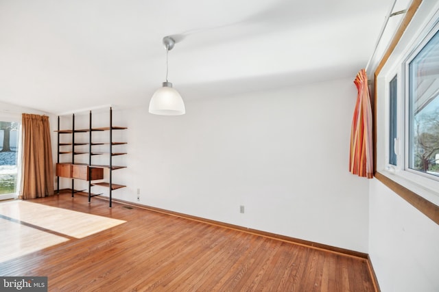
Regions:
M 166 48 L 166 81 L 163 87 L 158 88 L 150 101 L 150 113 L 162 116 L 179 116 L 186 113 L 185 103 L 177 90 L 172 88 L 172 83 L 167 81 L 167 54 L 174 48 L 175 40 L 170 36 L 163 38 Z

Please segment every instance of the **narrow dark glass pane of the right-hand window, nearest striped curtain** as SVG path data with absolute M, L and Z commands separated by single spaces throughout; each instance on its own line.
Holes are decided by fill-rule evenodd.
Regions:
M 389 88 L 389 164 L 396 165 L 396 154 L 395 154 L 395 139 L 397 136 L 397 110 L 398 103 L 396 102 L 397 98 L 397 78 L 396 76 L 390 81 Z

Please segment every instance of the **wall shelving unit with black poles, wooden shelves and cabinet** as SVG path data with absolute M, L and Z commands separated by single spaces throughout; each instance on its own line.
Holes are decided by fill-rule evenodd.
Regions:
M 92 112 L 89 112 L 89 127 L 88 129 L 75 129 L 75 114 L 72 115 L 72 129 L 61 130 L 60 129 L 60 117 L 58 116 L 58 160 L 56 165 L 56 176 L 58 183 L 58 194 L 60 177 L 71 178 L 71 196 L 78 191 L 86 191 L 86 189 L 77 190 L 75 189 L 75 179 L 81 179 L 88 181 L 88 202 L 91 202 L 91 198 L 94 196 L 100 196 L 102 194 L 93 194 L 91 188 L 93 186 L 107 187 L 108 197 L 109 197 L 109 207 L 112 206 L 112 191 L 115 189 L 120 189 L 126 187 L 125 185 L 118 185 L 112 183 L 112 172 L 114 170 L 119 170 L 121 168 L 126 168 L 126 166 L 113 165 L 112 157 L 117 155 L 125 155 L 126 152 L 113 152 L 113 146 L 127 144 L 126 142 L 114 142 L 113 131 L 115 130 L 125 130 L 126 127 L 117 127 L 112 125 L 112 108 L 110 107 L 110 122 L 109 127 L 97 127 L 93 128 L 92 123 L 93 117 Z M 108 142 L 93 142 L 94 132 L 108 131 L 109 139 Z M 75 142 L 75 133 L 88 133 L 88 142 Z M 71 142 L 60 142 L 60 135 L 71 134 Z M 75 146 L 85 146 L 88 145 L 88 151 L 77 151 Z M 94 151 L 93 146 L 106 146 L 108 145 L 107 151 Z M 71 146 L 71 150 L 61 150 L 62 146 Z M 60 155 L 71 154 L 71 161 L 60 162 Z M 85 155 L 88 154 L 88 163 L 75 163 L 75 155 Z M 95 155 L 108 155 L 108 165 L 94 164 L 92 157 Z M 104 180 L 104 169 L 109 170 L 108 181 Z

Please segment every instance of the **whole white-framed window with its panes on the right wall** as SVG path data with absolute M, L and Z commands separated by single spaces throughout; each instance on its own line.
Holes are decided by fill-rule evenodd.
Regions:
M 402 27 L 375 72 L 377 177 L 439 206 L 439 2 Z

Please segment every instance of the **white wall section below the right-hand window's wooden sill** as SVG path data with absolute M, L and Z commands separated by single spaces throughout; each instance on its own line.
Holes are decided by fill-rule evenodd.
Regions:
M 370 181 L 369 254 L 383 292 L 439 291 L 439 226 Z

